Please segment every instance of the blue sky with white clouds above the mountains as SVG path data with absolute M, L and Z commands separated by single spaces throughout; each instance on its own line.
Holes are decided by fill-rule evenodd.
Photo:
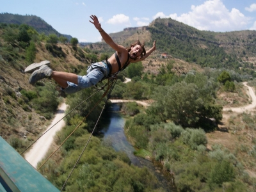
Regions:
M 0 0 L 0 4 L 0 13 L 36 15 L 79 42 L 101 40 L 90 15 L 99 18 L 106 33 L 148 26 L 157 17 L 206 31 L 256 30 L 255 0 Z

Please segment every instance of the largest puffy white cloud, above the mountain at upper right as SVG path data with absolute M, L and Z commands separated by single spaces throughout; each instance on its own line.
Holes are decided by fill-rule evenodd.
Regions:
M 251 20 L 250 17 L 245 17 L 236 8 L 232 8 L 230 12 L 221 0 L 208 0 L 198 6 L 192 5 L 190 12 L 180 16 L 177 13 L 164 15 L 163 12 L 159 12 L 153 18 L 156 19 L 157 17 L 171 17 L 194 28 L 209 31 L 241 30 Z

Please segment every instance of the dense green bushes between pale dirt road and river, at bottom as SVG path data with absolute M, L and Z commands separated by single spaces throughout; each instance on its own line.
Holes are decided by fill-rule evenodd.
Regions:
M 76 148 L 70 148 L 58 168 L 54 162 L 47 162 L 40 172 L 61 188 L 89 136 L 76 137 Z M 164 191 L 157 187 L 156 177 L 147 168 L 130 166 L 127 159 L 124 153 L 103 147 L 98 138 L 92 137 L 64 191 Z

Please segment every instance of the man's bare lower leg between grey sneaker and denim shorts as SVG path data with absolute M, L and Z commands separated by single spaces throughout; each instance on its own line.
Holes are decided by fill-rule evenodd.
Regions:
M 67 88 L 67 81 L 78 84 L 78 77 L 76 74 L 67 73 L 67 72 L 58 72 L 54 71 L 51 75 L 52 79 L 54 79 L 62 88 Z

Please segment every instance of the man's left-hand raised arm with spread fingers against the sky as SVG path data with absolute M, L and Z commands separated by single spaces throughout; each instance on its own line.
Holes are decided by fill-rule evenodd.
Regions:
M 123 46 L 121 45 L 117 45 L 112 38 L 108 35 L 108 33 L 106 33 L 100 25 L 100 22 L 98 20 L 98 18 L 96 17 L 96 15 L 91 15 L 90 18 L 93 20 L 89 20 L 90 22 L 92 22 L 92 24 L 94 24 L 95 28 L 98 29 L 98 31 L 100 32 L 100 35 L 102 36 L 102 38 L 104 39 L 104 41 L 113 49 L 115 49 L 115 51 L 118 52 L 122 52 L 123 49 L 125 49 Z

